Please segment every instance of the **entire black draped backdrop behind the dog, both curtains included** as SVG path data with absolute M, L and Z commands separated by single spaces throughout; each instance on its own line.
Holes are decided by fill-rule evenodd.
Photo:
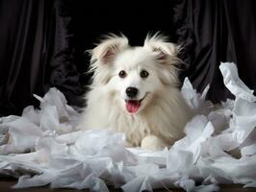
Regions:
M 198 91 L 211 84 L 208 98 L 231 97 L 218 70 L 234 61 L 250 88 L 256 88 L 254 0 L 163 1 L 0 1 L 0 115 L 20 114 L 38 105 L 56 86 L 71 105 L 82 106 L 90 83 L 89 56 L 101 35 L 123 33 L 141 45 L 148 32 L 164 32 L 182 44 L 181 58 Z

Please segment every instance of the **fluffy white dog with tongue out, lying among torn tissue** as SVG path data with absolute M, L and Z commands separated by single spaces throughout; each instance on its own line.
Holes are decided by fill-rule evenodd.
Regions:
M 192 110 L 178 88 L 179 47 L 147 36 L 131 47 L 108 36 L 91 51 L 93 82 L 80 128 L 124 132 L 127 144 L 161 150 L 184 135 Z

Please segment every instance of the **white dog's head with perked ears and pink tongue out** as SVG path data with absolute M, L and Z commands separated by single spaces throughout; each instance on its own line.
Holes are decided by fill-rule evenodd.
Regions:
M 141 47 L 125 36 L 108 36 L 91 51 L 92 86 L 104 86 L 128 113 L 138 113 L 163 89 L 179 84 L 179 47 L 166 36 L 147 36 Z

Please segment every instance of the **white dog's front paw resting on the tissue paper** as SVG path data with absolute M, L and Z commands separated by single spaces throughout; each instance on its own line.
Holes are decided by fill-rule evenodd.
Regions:
M 143 150 L 160 151 L 166 146 L 166 143 L 155 135 L 148 135 L 141 141 L 141 149 Z

